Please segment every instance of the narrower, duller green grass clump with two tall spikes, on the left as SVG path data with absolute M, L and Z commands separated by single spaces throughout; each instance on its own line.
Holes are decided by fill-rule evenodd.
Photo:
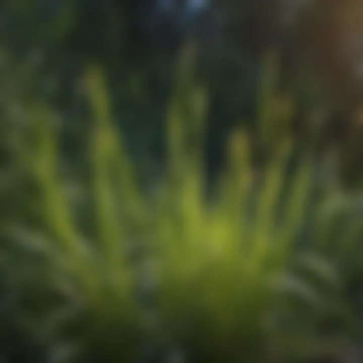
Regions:
M 81 353 L 76 361 L 138 361 L 147 327 L 135 294 L 137 275 L 130 254 L 136 233 L 130 226 L 135 229 L 144 222 L 143 201 L 137 199 L 128 160 L 112 129 L 101 75 L 89 70 L 87 81 L 95 116 L 90 148 L 95 224 L 91 232 L 76 225 L 65 196 L 54 116 L 43 105 L 29 110 L 32 135 L 23 162 L 34 179 L 38 221 L 47 236 L 42 246 L 44 278 L 40 276 L 36 283 L 46 281 L 53 298 L 61 302 L 51 306 L 61 307 L 65 321 L 57 328 L 78 345 Z M 45 295 L 31 297 L 46 299 Z M 43 338 L 48 339 L 45 334 Z

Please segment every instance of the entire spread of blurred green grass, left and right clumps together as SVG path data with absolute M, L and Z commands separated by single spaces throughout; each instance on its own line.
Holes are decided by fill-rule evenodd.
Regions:
M 45 234 L 35 245 L 23 245 L 42 256 L 34 260 L 25 253 L 27 264 L 22 262 L 22 273 L 36 276 L 32 286 L 39 288 L 23 291 L 35 307 L 31 315 L 42 313 L 35 314 L 32 331 L 63 361 L 142 361 L 149 345 L 157 345 L 152 334 L 163 346 L 157 359 L 168 346 L 180 348 L 191 362 L 312 361 L 336 354 L 344 348 L 340 337 L 325 339 L 316 330 L 331 316 L 341 317 L 335 304 L 339 283 L 315 245 L 308 249 L 313 257 L 296 253 L 314 168 L 308 150 L 287 177 L 294 152 L 291 105 L 273 98 L 270 86 L 265 89 L 268 102 L 260 105 L 259 124 L 269 155 L 262 171 L 256 176 L 249 134 L 233 132 L 218 192 L 207 200 L 207 97 L 184 62 L 168 115 L 167 175 L 156 202 L 137 188 L 111 122 L 102 74 L 88 71 L 94 122 L 87 231 L 65 198 L 53 115 L 41 105 L 29 110 L 33 133 L 23 162 L 34 177 Z M 271 117 L 281 122 L 275 143 L 268 138 Z M 70 340 L 76 350 L 59 343 Z

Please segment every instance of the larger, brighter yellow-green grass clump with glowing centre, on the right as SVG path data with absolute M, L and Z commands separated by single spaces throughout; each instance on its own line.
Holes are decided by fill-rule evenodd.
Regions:
M 186 79 L 169 114 L 169 194 L 154 223 L 161 315 L 191 361 L 282 361 L 287 347 L 273 356 L 277 342 L 271 344 L 266 324 L 273 319 L 271 307 L 286 292 L 277 285 L 287 281 L 295 259 L 295 242 L 311 198 L 312 155 L 310 150 L 302 155 L 287 186 L 293 153 L 287 133 L 291 108 L 286 103 L 278 107 L 280 99 L 272 102 L 267 94 L 261 117 L 268 119 L 259 120 L 261 129 L 279 117 L 281 130 L 278 145 L 271 144 L 268 130 L 261 133 L 270 151 L 262 177 L 254 178 L 251 138 L 234 132 L 219 193 L 207 202 L 198 150 L 204 98 Z M 186 122 L 188 111 L 192 125 Z M 309 285 L 292 276 L 289 281 L 286 288 L 309 298 Z

